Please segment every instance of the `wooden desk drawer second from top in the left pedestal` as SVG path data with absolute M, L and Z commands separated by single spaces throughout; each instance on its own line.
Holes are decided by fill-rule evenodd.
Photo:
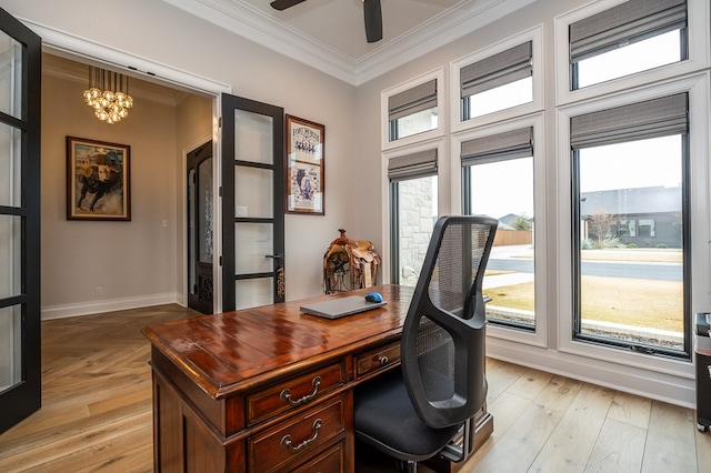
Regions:
M 306 461 L 344 430 L 344 404 L 342 396 L 339 396 L 281 423 L 276 429 L 250 437 L 249 471 L 274 472 L 288 464 Z

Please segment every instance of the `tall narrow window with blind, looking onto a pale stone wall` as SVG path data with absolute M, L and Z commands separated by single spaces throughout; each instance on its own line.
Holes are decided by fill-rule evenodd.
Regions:
M 414 286 L 438 218 L 437 150 L 388 161 L 393 284 Z

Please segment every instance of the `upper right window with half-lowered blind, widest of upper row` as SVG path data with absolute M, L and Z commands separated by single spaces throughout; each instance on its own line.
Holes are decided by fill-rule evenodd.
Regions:
M 685 0 L 629 0 L 570 24 L 571 90 L 688 58 Z

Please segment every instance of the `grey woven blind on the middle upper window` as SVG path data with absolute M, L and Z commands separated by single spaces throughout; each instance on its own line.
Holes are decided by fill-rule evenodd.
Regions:
M 460 69 L 461 97 L 514 82 L 533 73 L 531 41 Z

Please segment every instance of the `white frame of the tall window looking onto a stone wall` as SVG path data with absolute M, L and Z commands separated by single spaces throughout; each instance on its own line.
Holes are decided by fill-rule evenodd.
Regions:
M 449 178 L 449 173 L 447 172 L 448 171 L 447 165 L 449 165 L 449 163 L 444 158 L 448 155 L 449 150 L 445 149 L 445 145 L 447 145 L 447 142 L 444 141 L 443 138 L 435 138 L 435 139 L 425 140 L 419 143 L 410 144 L 408 147 L 401 147 L 394 150 L 383 151 L 383 153 L 381 154 L 380 175 L 382 177 L 382 179 L 380 181 L 381 182 L 380 194 L 383 195 L 383 199 L 382 199 L 383 211 L 381 212 L 382 214 L 382 222 L 381 222 L 382 240 L 381 241 L 383 242 L 383 248 L 381 251 L 382 258 L 380 260 L 381 260 L 381 268 L 382 268 L 382 275 L 383 275 L 383 284 L 391 283 L 390 261 L 391 261 L 392 251 L 394 251 L 394 249 L 390 244 L 390 220 L 392 219 L 392 209 L 391 209 L 391 202 L 390 202 L 390 179 L 388 179 L 388 162 L 392 158 L 399 158 L 407 154 L 418 153 L 421 151 L 437 150 L 437 155 L 438 155 L 437 210 L 438 210 L 438 217 L 445 215 L 450 213 L 449 202 L 448 202 L 449 195 L 444 193 L 447 192 L 450 185 L 449 185 L 449 182 L 443 182 L 443 180 L 448 180 Z

